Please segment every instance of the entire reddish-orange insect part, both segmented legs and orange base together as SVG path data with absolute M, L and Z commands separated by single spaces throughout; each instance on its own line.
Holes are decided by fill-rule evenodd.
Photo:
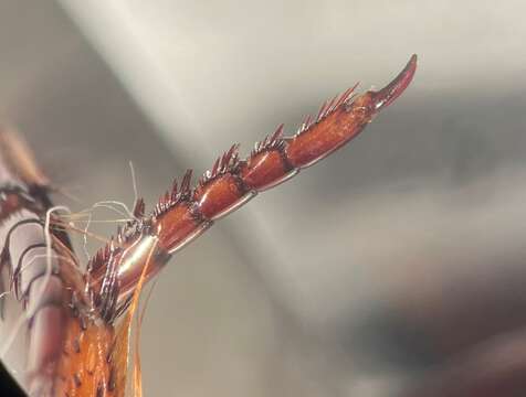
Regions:
M 138 200 L 85 269 L 72 250 L 67 224 L 52 207 L 48 179 L 10 133 L 2 133 L 0 235 L 4 288 L 25 305 L 32 396 L 123 396 L 130 316 L 143 283 L 170 256 L 259 192 L 273 187 L 356 137 L 410 84 L 413 55 L 385 88 L 325 103 L 294 137 L 283 126 L 245 160 L 232 146 L 191 187 L 191 171 L 160 197 L 150 214 Z M 1 353 L 1 352 L 0 352 Z

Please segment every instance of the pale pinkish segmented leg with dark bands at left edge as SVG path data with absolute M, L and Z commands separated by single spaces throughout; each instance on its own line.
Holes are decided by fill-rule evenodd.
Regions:
M 64 336 L 65 289 L 57 276 L 57 254 L 54 249 L 46 253 L 42 221 L 50 205 L 43 184 L 46 180 L 23 143 L 7 131 L 0 136 L 0 242 L 3 242 L 2 264 L 9 265 L 6 270 L 11 275 L 2 283 L 4 288 L 9 285 L 25 305 L 30 331 L 29 391 L 35 396 L 52 396 Z M 64 239 L 64 244 L 69 242 Z M 2 341 L 3 348 L 8 348 L 10 342 Z

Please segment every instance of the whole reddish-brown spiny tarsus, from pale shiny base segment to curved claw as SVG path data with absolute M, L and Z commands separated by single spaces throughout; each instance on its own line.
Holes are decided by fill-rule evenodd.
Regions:
M 359 96 L 354 96 L 356 86 L 348 89 L 325 103 L 316 118 L 307 117 L 294 137 L 283 137 L 283 126 L 280 126 L 274 133 L 256 143 L 245 160 L 239 159 L 238 144 L 232 146 L 203 174 L 194 190 L 190 187 L 191 171 L 188 171 L 181 185 L 175 182 L 150 216 L 130 223 L 118 234 L 117 244 L 112 243 L 109 248 L 95 256 L 88 266 L 98 286 L 95 289 L 99 290 L 104 285 L 112 258 L 113 266 L 117 265 L 117 277 L 113 275 L 113 278 L 118 292 L 114 289 L 114 294 L 117 293 L 119 299 L 129 296 L 141 275 L 146 254 L 151 254 L 145 249 L 146 237 L 151 245 L 151 237 L 155 237 L 157 249 L 167 254 L 182 248 L 210 227 L 214 219 L 240 207 L 257 192 L 284 182 L 355 138 L 376 114 L 403 93 L 415 68 L 417 56 L 413 55 L 385 88 Z M 141 239 L 143 244 L 139 244 Z M 138 248 L 133 247 L 141 247 L 145 254 L 138 255 Z M 167 255 L 159 254 L 155 258 L 154 266 L 148 265 L 149 277 L 168 260 Z M 103 301 L 108 299 L 101 298 Z

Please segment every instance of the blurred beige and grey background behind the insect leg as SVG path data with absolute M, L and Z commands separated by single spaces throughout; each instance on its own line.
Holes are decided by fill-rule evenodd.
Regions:
M 291 135 L 419 54 L 412 86 L 364 135 L 167 266 L 143 328 L 146 396 L 523 395 L 524 11 L 0 3 L 0 115 L 73 210 L 132 205 L 129 161 L 151 208 L 187 168 L 200 174 L 232 142 L 248 154 L 281 122 Z

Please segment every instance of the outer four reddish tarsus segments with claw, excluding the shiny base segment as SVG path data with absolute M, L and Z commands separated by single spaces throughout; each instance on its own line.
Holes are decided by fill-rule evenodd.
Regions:
M 156 233 L 160 245 L 168 251 L 180 248 L 188 232 L 199 229 L 203 223 L 221 217 L 244 204 L 255 193 L 275 186 L 309 167 L 356 137 L 382 108 L 390 105 L 411 82 L 417 67 L 413 55 L 403 71 L 379 92 L 367 92 L 356 98 L 353 87 L 325 103 L 315 119 L 307 117 L 298 132 L 284 138 L 283 126 L 269 136 L 246 160 L 239 160 L 234 144 L 219 158 L 211 171 L 200 180 L 196 190 L 188 193 L 188 182 L 178 196 L 177 185 L 155 215 Z M 188 174 L 187 174 L 188 175 Z M 188 178 L 186 179 L 188 181 Z M 185 208 L 185 210 L 182 210 Z M 175 216 L 179 213 L 179 216 Z M 191 219 L 191 221 L 190 221 Z

